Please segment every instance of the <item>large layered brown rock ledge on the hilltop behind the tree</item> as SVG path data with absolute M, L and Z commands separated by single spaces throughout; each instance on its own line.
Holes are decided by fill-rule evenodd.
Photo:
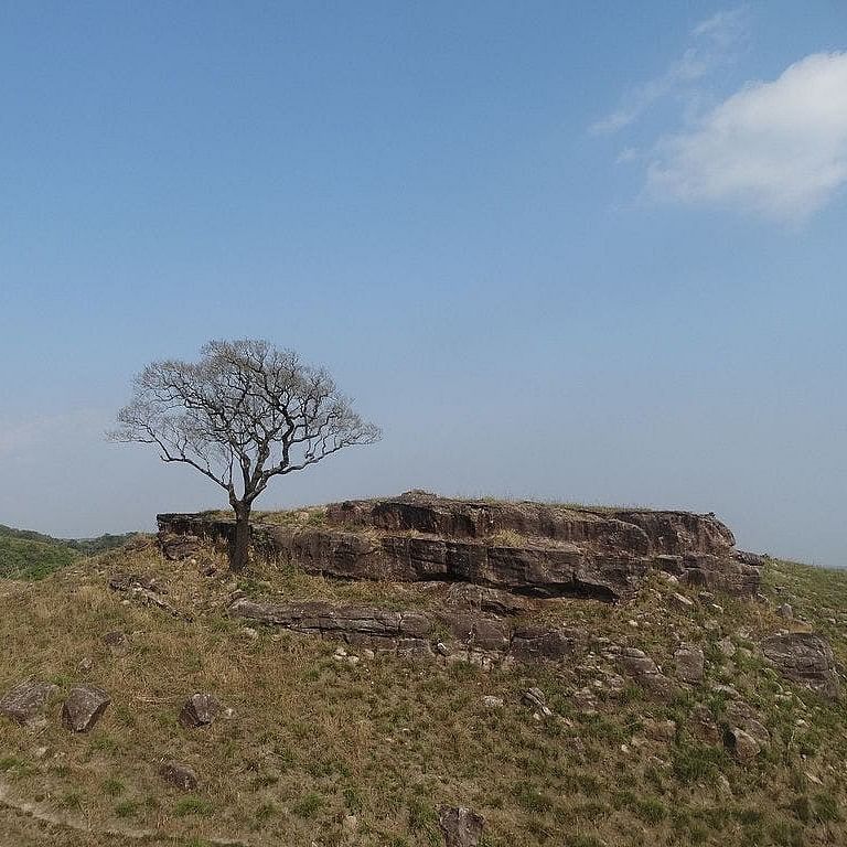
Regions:
M 168 555 L 176 537 L 232 544 L 234 521 L 158 516 Z M 186 547 L 191 548 L 191 543 Z M 255 523 L 256 555 L 346 579 L 444 580 L 537 597 L 632 597 L 650 567 L 738 594 L 759 589 L 732 533 L 711 515 L 449 500 L 408 492 L 326 507 L 323 524 Z

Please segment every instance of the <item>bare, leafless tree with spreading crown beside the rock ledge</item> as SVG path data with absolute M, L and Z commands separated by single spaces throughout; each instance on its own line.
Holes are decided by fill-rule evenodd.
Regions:
M 266 341 L 210 341 L 197 362 L 148 365 L 109 438 L 153 444 L 217 483 L 235 511 L 230 567 L 247 566 L 250 510 L 274 476 L 379 440 L 323 369 Z

